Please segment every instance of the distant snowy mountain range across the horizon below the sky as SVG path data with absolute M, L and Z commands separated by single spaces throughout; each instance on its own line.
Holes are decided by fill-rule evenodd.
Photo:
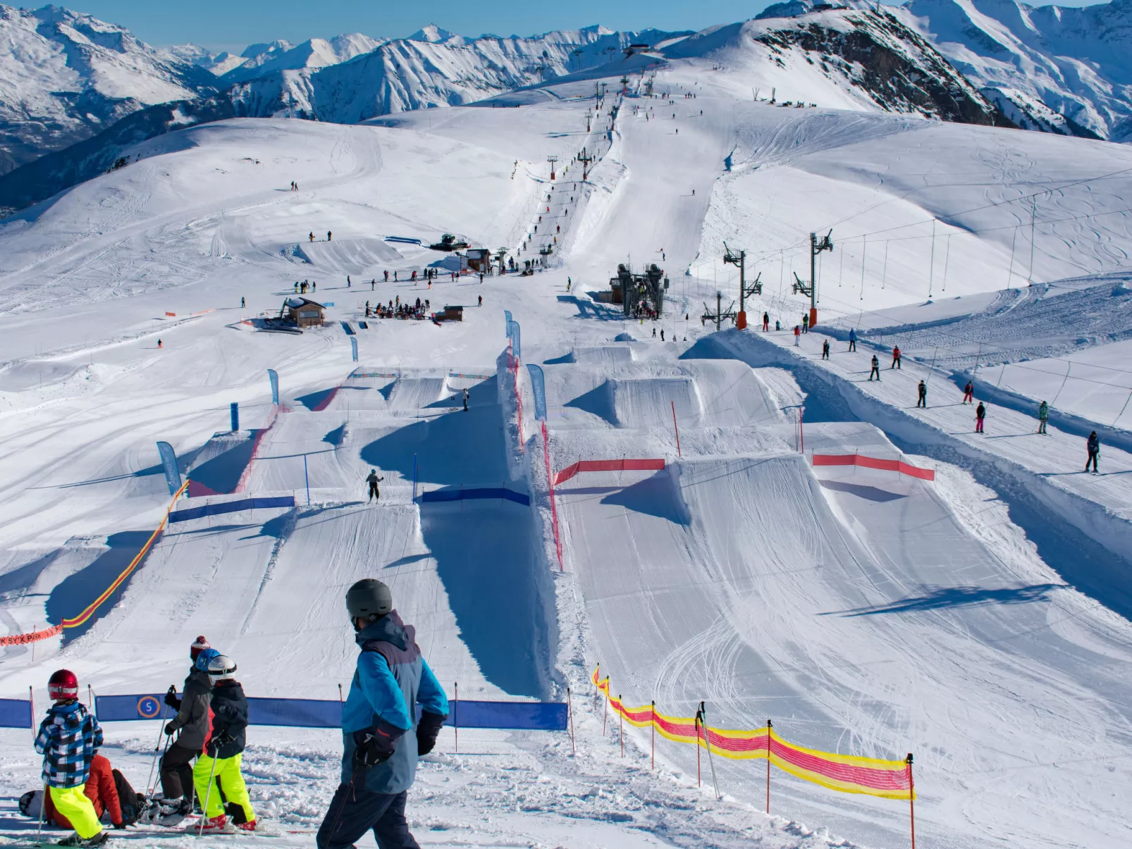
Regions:
M 787 0 L 700 33 L 592 26 L 472 38 L 428 26 L 408 38 L 355 33 L 252 44 L 239 55 L 154 49 L 54 6 L 0 6 L 0 174 L 11 172 L 0 177 L 0 211 L 50 197 L 186 123 L 234 115 L 354 123 L 569 75 L 640 71 L 626 55 L 642 51 L 651 63 L 726 66 L 738 91 L 762 86 L 824 106 L 1132 136 L 1132 0 L 1083 9 Z

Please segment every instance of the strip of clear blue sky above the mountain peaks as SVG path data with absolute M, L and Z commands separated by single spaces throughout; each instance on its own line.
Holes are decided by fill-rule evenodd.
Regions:
M 192 42 L 214 50 L 242 50 L 255 42 L 302 42 L 341 33 L 375 37 L 410 35 L 437 24 L 462 35 L 532 35 L 603 24 L 614 29 L 702 29 L 753 17 L 770 0 L 600 0 L 498 2 L 498 0 L 55 0 L 77 11 L 121 24 L 153 45 Z M 1040 5 L 1040 3 L 1035 3 Z M 1087 0 L 1061 0 L 1084 6 Z

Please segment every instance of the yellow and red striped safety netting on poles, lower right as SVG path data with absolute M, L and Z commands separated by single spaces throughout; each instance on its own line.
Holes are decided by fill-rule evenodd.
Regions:
M 593 685 L 604 694 L 615 713 L 637 728 L 652 726 L 661 737 L 698 745 L 731 760 L 764 760 L 769 756 L 771 763 L 783 772 L 831 790 L 886 799 L 916 798 L 908 761 L 883 761 L 805 748 L 782 739 L 770 724 L 751 731 L 721 729 L 703 726 L 696 717 L 668 717 L 651 704 L 626 707 L 620 696 L 610 695 L 609 677 L 600 678 L 599 675 L 600 667 L 593 670 Z

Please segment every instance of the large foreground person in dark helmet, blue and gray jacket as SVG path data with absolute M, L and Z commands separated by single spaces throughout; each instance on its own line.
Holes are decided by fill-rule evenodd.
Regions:
M 361 653 L 342 710 L 342 782 L 315 842 L 349 849 L 372 830 L 381 849 L 417 849 L 405 799 L 417 758 L 436 745 L 448 700 L 421 657 L 415 629 L 394 610 L 388 586 L 362 578 L 346 592 L 346 610 Z M 413 707 L 422 710 L 420 720 Z

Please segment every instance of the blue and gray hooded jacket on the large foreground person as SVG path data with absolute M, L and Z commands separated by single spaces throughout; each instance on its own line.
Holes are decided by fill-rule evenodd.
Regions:
M 417 645 L 417 632 L 392 611 L 358 632 L 361 646 L 350 695 L 342 709 L 342 781 L 365 772 L 365 789 L 400 794 L 417 775 L 417 706 L 439 717 L 448 714 L 448 698 Z M 376 729 L 393 737 L 393 756 L 368 770 L 353 763 L 354 731 Z M 406 739 L 408 738 L 408 739 Z

